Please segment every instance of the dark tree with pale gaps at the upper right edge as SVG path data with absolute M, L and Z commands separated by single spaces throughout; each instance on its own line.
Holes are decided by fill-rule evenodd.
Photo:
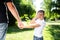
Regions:
M 55 13 L 55 19 L 60 19 L 60 0 L 54 0 L 52 2 L 52 12 Z

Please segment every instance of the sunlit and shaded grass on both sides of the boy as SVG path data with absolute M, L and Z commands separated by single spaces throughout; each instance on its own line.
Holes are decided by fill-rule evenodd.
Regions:
M 6 40 L 33 40 L 33 29 L 19 29 L 10 26 Z M 46 26 L 43 31 L 44 40 L 60 40 L 60 26 Z

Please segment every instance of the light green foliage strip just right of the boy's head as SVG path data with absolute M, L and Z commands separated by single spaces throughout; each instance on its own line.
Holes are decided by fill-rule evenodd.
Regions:
M 52 0 L 44 0 L 44 10 L 45 10 L 45 17 L 48 20 L 51 17 L 51 2 Z M 48 15 L 48 16 L 47 16 Z

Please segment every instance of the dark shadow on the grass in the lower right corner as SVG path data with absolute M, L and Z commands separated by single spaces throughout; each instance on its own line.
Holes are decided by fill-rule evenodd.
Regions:
M 54 40 L 60 40 L 60 25 L 50 25 L 49 30 Z

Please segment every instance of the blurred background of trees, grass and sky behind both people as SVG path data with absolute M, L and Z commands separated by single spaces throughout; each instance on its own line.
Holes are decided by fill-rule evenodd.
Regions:
M 45 11 L 46 27 L 44 40 L 60 40 L 60 0 L 13 0 L 21 20 L 28 24 L 39 9 Z M 9 27 L 6 40 L 33 40 L 33 29 L 19 29 L 17 21 L 9 15 Z

